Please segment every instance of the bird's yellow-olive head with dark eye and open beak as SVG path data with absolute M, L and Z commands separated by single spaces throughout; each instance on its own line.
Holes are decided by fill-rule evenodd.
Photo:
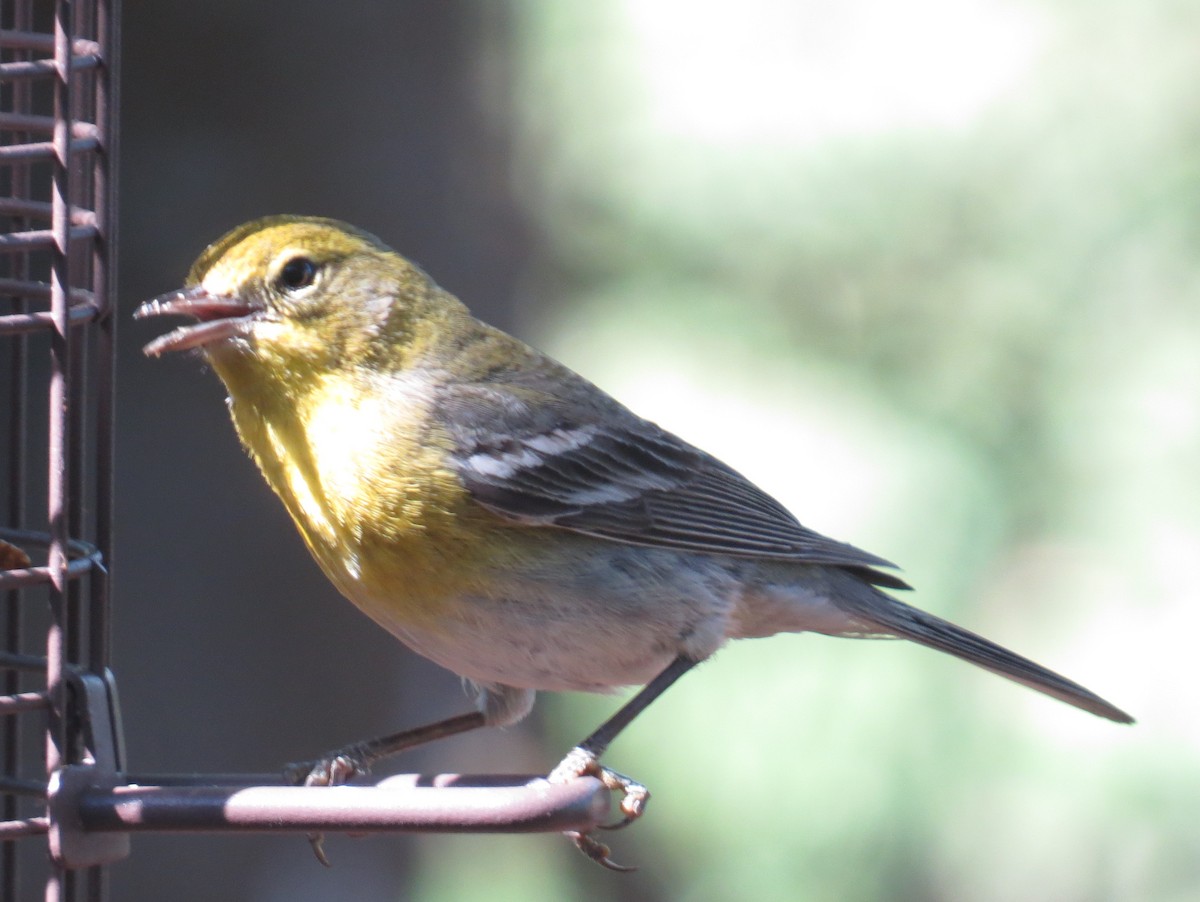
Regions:
M 448 297 L 373 235 L 335 220 L 271 216 L 210 245 L 185 288 L 134 315 L 199 320 L 154 339 L 146 354 L 200 349 L 227 384 L 235 371 L 295 380 L 410 350 L 413 324 Z

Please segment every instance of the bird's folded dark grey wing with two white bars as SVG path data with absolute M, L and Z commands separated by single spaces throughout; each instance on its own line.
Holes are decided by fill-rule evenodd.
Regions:
M 618 542 L 832 564 L 878 585 L 908 588 L 871 570 L 895 565 L 806 529 L 710 455 L 605 395 L 598 404 L 590 385 L 571 387 L 569 395 L 582 397 L 512 384 L 443 390 L 438 420 L 450 429 L 458 476 L 479 504 L 522 523 Z M 583 397 L 588 403 L 571 403 Z

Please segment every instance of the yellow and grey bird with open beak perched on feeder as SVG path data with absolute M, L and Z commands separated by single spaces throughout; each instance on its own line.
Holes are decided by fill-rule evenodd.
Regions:
M 517 723 L 539 691 L 641 686 L 550 772 L 649 790 L 600 763 L 656 697 L 731 639 L 904 638 L 1117 723 L 1064 676 L 893 593 L 895 565 L 804 527 L 732 467 L 474 318 L 374 235 L 314 216 L 244 223 L 138 318 L 187 323 L 241 443 L 322 571 L 474 709 L 289 765 L 341 783 L 379 758 Z M 590 832 L 576 846 L 624 870 Z M 323 853 L 318 848 L 318 856 Z

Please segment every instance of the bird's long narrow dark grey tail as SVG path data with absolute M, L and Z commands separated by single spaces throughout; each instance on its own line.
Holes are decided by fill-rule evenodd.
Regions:
M 838 603 L 856 620 L 874 624 L 887 635 L 911 639 L 920 645 L 970 661 L 1075 708 L 1091 711 L 1099 717 L 1108 717 L 1117 723 L 1133 723 L 1133 717 L 1128 714 L 1078 682 L 1068 680 L 1054 671 L 1048 671 L 1042 665 L 1021 657 L 983 636 L 964 630 L 949 620 L 942 620 L 940 617 L 905 605 L 902 601 L 863 583 L 859 583 L 859 587 L 862 589 L 847 591 L 838 599 Z M 864 597 L 868 593 L 874 597 L 870 600 Z

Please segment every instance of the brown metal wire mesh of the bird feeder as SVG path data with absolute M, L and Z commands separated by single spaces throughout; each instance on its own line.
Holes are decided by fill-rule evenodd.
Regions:
M 101 898 L 47 864 L 49 778 L 89 752 L 70 688 L 109 656 L 115 0 L 0 12 L 0 896 Z

